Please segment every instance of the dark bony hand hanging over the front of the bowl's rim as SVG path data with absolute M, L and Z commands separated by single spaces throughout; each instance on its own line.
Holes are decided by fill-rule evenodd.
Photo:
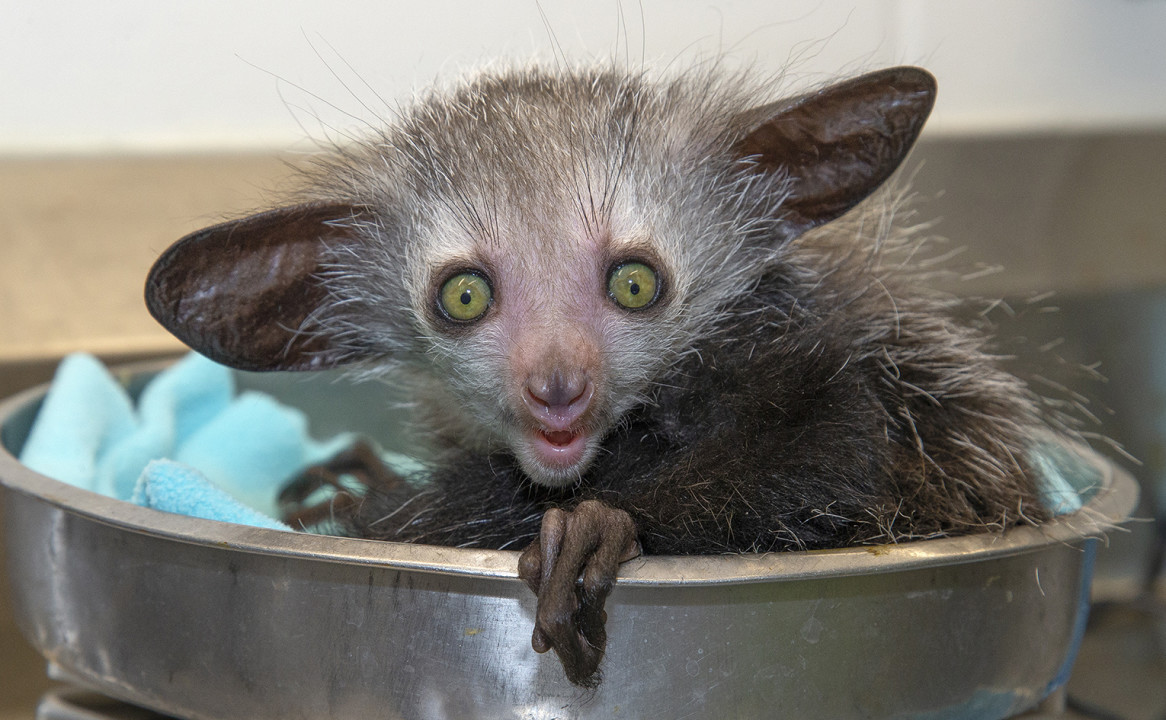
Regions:
M 640 554 L 635 523 L 623 510 L 584 501 L 575 510 L 548 510 L 539 539 L 519 559 L 519 576 L 539 596 L 531 644 L 554 649 L 576 685 L 598 685 L 607 644 L 603 606 L 619 564 Z

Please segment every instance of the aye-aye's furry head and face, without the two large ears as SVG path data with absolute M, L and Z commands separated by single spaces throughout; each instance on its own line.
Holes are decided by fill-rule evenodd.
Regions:
M 367 152 L 423 208 L 407 289 L 462 441 L 562 485 L 774 249 L 747 247 L 772 193 L 742 197 L 770 179 L 735 165 L 724 98 L 546 79 L 479 81 Z

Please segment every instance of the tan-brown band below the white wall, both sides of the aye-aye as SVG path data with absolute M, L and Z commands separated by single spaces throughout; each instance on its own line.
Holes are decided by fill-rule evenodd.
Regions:
M 957 293 L 1166 284 L 1166 132 L 925 140 L 907 222 L 965 267 Z M 293 154 L 0 159 L 0 363 L 173 352 L 142 284 L 177 238 L 269 207 Z M 1003 267 L 992 272 L 992 267 Z

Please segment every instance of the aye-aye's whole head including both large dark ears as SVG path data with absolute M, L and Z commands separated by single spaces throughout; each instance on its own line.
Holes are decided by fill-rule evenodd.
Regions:
M 438 378 L 445 436 L 562 485 L 791 238 L 894 170 L 933 98 L 911 68 L 760 106 L 715 71 L 479 77 L 323 159 L 305 202 L 180 240 L 147 301 L 236 366 Z

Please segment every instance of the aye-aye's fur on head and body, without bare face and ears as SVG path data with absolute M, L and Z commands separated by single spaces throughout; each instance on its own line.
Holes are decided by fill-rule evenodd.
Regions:
M 322 161 L 308 200 L 394 212 L 359 252 L 337 249 L 336 302 L 315 320 L 372 356 L 364 366 L 416 383 L 420 417 L 444 440 L 422 495 L 371 496 L 356 532 L 521 547 L 547 508 L 586 498 L 627 510 L 649 553 L 898 541 L 1045 517 L 1025 461 L 1040 427 L 1032 394 L 979 329 L 953 320 L 953 299 L 915 281 L 915 240 L 890 222 L 895 200 L 782 242 L 786 179 L 732 166 L 742 113 L 767 97 L 715 69 L 662 83 L 511 70 L 426 98 Z M 612 323 L 618 424 L 583 476 L 546 489 L 491 434 L 506 412 L 491 364 L 501 341 L 435 333 L 428 273 L 479 246 L 554 261 L 581 232 L 648 244 L 679 296 L 648 322 Z

